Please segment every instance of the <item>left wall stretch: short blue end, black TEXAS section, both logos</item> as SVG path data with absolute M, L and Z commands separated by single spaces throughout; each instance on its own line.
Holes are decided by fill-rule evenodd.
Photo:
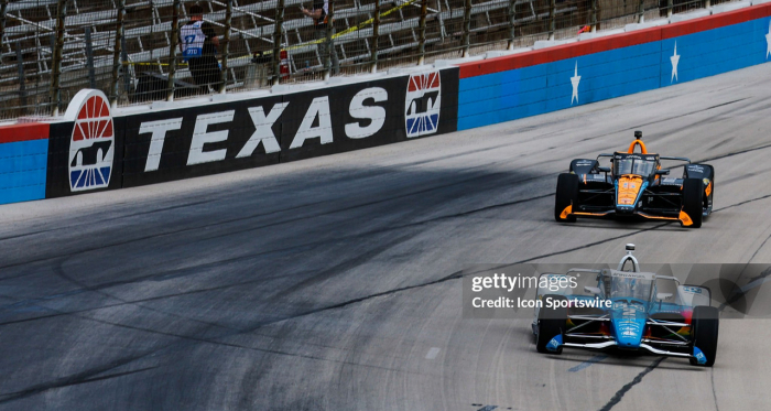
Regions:
M 0 204 L 365 149 L 455 131 L 458 68 L 112 115 L 78 93 L 64 121 L 0 128 Z

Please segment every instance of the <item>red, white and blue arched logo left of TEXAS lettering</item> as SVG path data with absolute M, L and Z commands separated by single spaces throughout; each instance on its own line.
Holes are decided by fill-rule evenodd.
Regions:
M 99 90 L 80 90 L 64 117 L 75 121 L 69 140 L 69 190 L 107 187 L 115 156 L 115 130 L 107 96 Z

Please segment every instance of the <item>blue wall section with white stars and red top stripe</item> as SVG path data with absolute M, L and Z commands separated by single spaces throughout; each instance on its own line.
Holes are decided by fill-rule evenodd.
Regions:
M 461 64 L 458 130 L 712 76 L 771 58 L 771 4 Z

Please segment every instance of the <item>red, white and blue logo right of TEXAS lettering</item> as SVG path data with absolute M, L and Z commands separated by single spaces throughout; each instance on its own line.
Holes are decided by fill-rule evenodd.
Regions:
M 439 72 L 413 74 L 406 86 L 406 137 L 433 134 L 439 127 L 442 83 Z

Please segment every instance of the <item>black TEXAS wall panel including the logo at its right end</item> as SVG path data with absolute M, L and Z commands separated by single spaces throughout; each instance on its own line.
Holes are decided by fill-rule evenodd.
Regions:
M 116 120 L 120 123 L 116 142 L 124 142 L 122 186 L 455 131 L 457 93 L 458 69 L 454 67 L 121 117 Z

